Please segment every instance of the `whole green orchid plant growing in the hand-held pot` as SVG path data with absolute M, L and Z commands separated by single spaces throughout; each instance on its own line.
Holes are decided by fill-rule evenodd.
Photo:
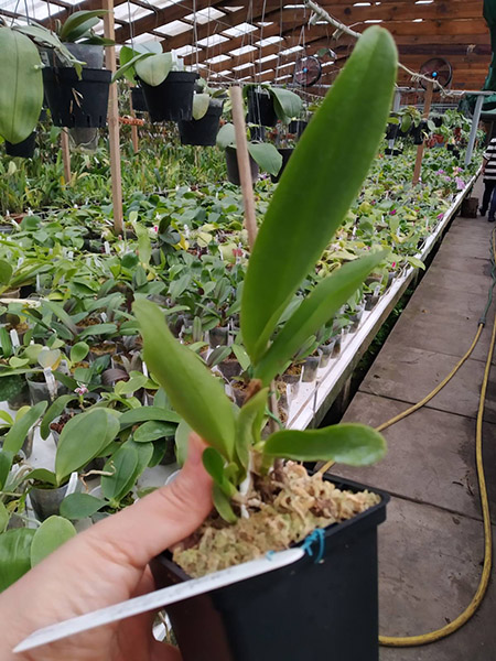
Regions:
M 242 291 L 241 334 L 255 378 L 241 409 L 233 407 L 197 357 L 172 336 L 159 307 L 144 299 L 134 303 L 147 365 L 174 409 L 208 443 L 204 464 L 215 481 L 215 503 L 229 521 L 236 519 L 229 499 L 254 466 L 267 469 L 274 457 L 364 465 L 384 455 L 384 438 L 363 425 L 282 430 L 266 441 L 260 431 L 273 377 L 384 259 L 382 252 L 371 253 L 324 278 L 273 337 L 279 318 L 367 174 L 389 113 L 396 66 L 389 33 L 368 30 L 312 120 L 273 195 Z M 365 104 L 369 109 L 366 127 L 358 121 Z M 363 130 L 357 128 L 360 126 Z

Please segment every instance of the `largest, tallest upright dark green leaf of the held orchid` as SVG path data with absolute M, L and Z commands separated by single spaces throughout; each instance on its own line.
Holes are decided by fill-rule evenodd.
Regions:
M 254 364 L 360 188 L 382 139 L 396 74 L 391 35 L 366 30 L 284 170 L 242 289 L 241 333 Z

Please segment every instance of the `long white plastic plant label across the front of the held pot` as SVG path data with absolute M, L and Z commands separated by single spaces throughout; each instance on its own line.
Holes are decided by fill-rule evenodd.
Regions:
M 213 589 L 226 587 L 227 585 L 239 583 L 240 581 L 246 581 L 254 576 L 280 570 L 281 567 L 301 560 L 304 554 L 305 551 L 302 548 L 289 549 L 288 551 L 280 551 L 278 553 L 268 553 L 265 557 L 259 560 L 252 560 L 251 562 L 246 562 L 235 567 L 223 570 L 222 572 L 202 576 L 202 578 L 185 581 L 179 585 L 164 587 L 148 595 L 134 597 L 133 599 L 122 602 L 121 604 L 116 604 L 115 606 L 108 606 L 107 608 L 95 610 L 94 613 L 73 617 L 63 622 L 50 625 L 48 627 L 34 631 L 34 633 L 31 633 L 31 636 L 19 643 L 13 651 L 18 653 L 32 650 L 42 644 L 62 640 L 63 638 L 68 638 L 69 636 L 80 633 L 82 631 L 88 631 L 96 627 L 110 625 L 111 622 L 117 622 L 133 615 L 140 615 L 141 613 L 163 608 L 170 604 L 184 602 L 185 599 L 196 597 L 197 595 L 202 595 Z

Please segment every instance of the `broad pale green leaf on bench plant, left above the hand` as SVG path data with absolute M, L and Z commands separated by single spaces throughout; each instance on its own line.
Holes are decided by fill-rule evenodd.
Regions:
M 55 455 L 55 474 L 61 484 L 80 470 L 109 445 L 120 430 L 119 420 L 106 409 L 93 409 L 72 418 L 64 426 Z

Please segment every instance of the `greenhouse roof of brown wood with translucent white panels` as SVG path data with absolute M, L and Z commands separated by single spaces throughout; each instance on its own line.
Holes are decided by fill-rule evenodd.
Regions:
M 452 87 L 478 89 L 490 62 L 490 40 L 479 0 L 381 0 L 349 2 L 322 0 L 333 18 L 360 32 L 381 24 L 395 36 L 401 62 L 412 71 L 432 57 L 443 57 L 453 67 Z M 103 0 L 2 0 L 0 15 L 34 19 L 51 26 L 79 9 L 99 9 Z M 281 0 L 115 0 L 118 44 L 162 42 L 184 57 L 187 66 L 215 74 L 218 80 L 288 83 L 288 65 L 302 55 L 319 53 L 320 85 L 333 82 L 346 62 L 354 39 L 336 34 L 335 28 L 313 20 L 304 3 Z M 103 23 L 96 31 L 103 33 Z M 331 52 L 325 52 L 330 48 Z M 291 76 L 290 76 L 291 77 Z M 401 73 L 400 84 L 410 76 Z

